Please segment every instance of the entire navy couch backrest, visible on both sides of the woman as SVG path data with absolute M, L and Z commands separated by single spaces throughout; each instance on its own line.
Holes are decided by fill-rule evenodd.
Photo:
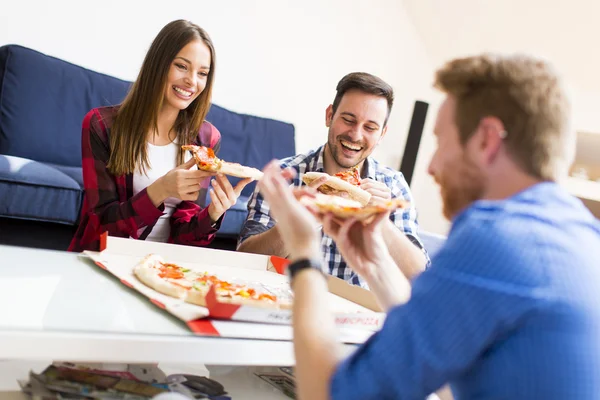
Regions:
M 22 46 L 0 47 L 0 154 L 80 167 L 83 117 L 120 103 L 130 85 Z M 292 124 L 217 105 L 207 119 L 221 131 L 224 160 L 262 169 L 295 154 Z

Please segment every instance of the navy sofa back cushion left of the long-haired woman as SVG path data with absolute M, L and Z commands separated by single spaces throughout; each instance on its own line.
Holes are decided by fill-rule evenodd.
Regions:
M 81 123 L 130 83 L 37 51 L 0 47 L 0 154 L 81 166 Z

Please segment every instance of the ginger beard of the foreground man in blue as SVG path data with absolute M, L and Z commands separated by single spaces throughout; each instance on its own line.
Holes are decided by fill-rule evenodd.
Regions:
M 448 220 L 481 199 L 485 190 L 484 175 L 466 155 L 449 163 L 435 181 L 440 185 L 443 213 Z

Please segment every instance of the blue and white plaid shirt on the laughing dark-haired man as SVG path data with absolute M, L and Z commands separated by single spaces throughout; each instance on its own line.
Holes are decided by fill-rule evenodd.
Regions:
M 281 168 L 290 167 L 296 170 L 296 178 L 292 182 L 293 186 L 299 187 L 304 184 L 302 176 L 306 172 L 324 172 L 323 149 L 324 146 L 321 146 L 307 154 L 299 154 L 281 161 Z M 372 157 L 368 157 L 365 160 L 362 177 L 383 182 L 391 189 L 393 198 L 399 197 L 410 202 L 410 207 L 393 212 L 390 215 L 390 220 L 423 251 L 429 263 L 427 251 L 417 236 L 417 210 L 402 173 L 384 167 Z M 274 225 L 275 220 L 269 214 L 269 204 L 264 200 L 258 189 L 256 189 L 248 203 L 248 217 L 242 227 L 238 246 L 248 237 L 265 232 Z M 321 235 L 321 252 L 325 260 L 325 265 L 329 268 L 329 273 L 352 284 L 367 288 L 367 283 L 352 271 L 342 259 L 333 239 L 325 235 L 322 231 Z

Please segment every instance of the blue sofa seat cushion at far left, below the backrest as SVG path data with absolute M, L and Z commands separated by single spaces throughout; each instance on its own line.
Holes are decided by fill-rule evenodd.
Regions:
M 0 154 L 0 216 L 73 225 L 82 197 L 80 185 L 56 168 Z

